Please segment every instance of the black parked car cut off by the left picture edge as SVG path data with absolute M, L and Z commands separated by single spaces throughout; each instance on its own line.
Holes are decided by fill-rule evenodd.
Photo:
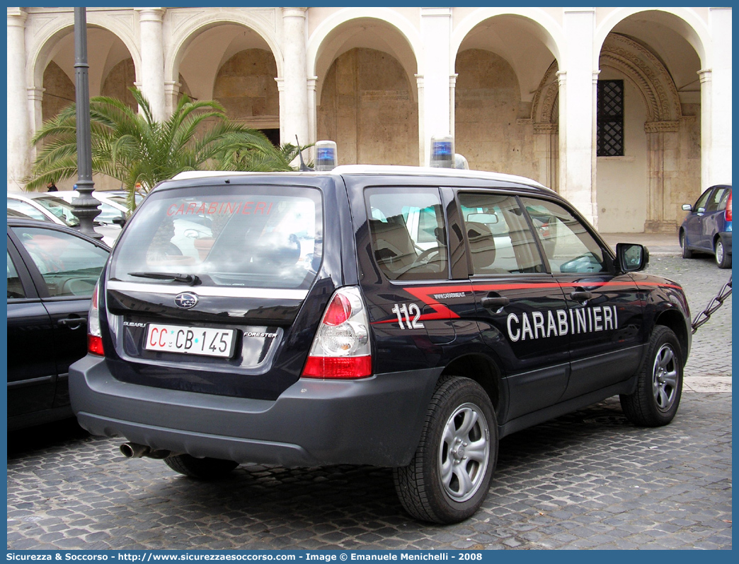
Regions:
M 67 371 L 87 351 L 87 312 L 105 244 L 52 223 L 7 218 L 10 430 L 64 419 Z

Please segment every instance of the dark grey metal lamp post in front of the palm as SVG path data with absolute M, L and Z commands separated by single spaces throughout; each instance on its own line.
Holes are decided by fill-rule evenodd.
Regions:
M 92 142 L 90 139 L 90 97 L 87 75 L 87 15 L 86 8 L 75 7 L 75 101 L 77 105 L 77 191 L 72 211 L 80 220 L 80 231 L 90 237 L 103 238 L 93 228 L 101 213 L 100 202 L 92 197 Z

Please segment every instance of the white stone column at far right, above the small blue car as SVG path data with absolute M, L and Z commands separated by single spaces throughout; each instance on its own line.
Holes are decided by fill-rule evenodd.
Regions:
M 704 162 L 709 161 L 707 182 L 703 188 L 732 182 L 732 9 L 709 8 L 708 24 L 713 47 L 710 75 L 711 141 L 710 152 L 707 158 L 703 157 Z

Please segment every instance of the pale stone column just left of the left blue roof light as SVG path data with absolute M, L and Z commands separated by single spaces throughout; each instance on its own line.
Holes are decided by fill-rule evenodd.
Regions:
M 281 91 L 279 97 L 281 143 L 295 143 L 296 135 L 301 145 L 307 145 L 310 139 L 308 134 L 308 84 L 305 59 L 306 10 L 307 8 L 282 8 L 282 52 L 285 58 L 282 86 L 285 93 L 283 95 Z

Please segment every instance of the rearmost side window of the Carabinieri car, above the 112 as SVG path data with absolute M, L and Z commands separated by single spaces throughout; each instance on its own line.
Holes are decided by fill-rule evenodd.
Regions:
M 446 231 L 437 188 L 368 188 L 372 257 L 390 280 L 449 277 Z

